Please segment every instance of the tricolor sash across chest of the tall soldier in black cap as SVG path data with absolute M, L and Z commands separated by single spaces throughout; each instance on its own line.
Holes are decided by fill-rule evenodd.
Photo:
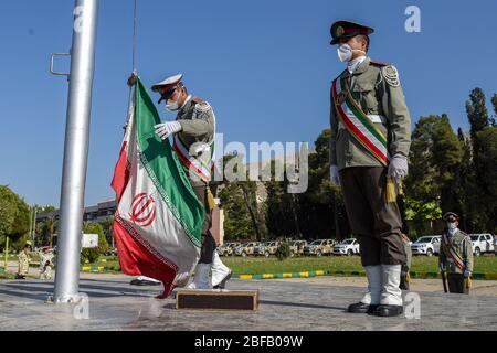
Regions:
M 343 126 L 378 161 L 387 167 L 390 162 L 387 148 L 387 137 L 374 126 L 364 114 L 350 90 L 345 85 L 343 78 L 337 78 L 332 84 L 332 101 Z

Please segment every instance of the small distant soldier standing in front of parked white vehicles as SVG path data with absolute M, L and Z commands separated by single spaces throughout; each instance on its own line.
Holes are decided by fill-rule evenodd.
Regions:
M 443 216 L 447 227 L 442 235 L 438 268 L 447 274 L 451 293 L 469 293 L 473 272 L 473 246 L 469 236 L 457 228 L 459 216 L 448 212 Z

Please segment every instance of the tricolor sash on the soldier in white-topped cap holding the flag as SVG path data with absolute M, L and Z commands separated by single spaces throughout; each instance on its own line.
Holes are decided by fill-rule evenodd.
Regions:
M 214 170 L 214 142 L 210 145 L 211 151 L 209 160 L 204 158 L 195 158 L 190 154 L 187 145 L 181 140 L 180 136 L 175 135 L 175 151 L 178 154 L 181 163 L 194 175 L 199 176 L 205 183 L 209 183 L 212 179 L 212 172 Z M 205 152 L 204 152 L 205 153 Z M 203 156 L 202 156 L 203 157 Z

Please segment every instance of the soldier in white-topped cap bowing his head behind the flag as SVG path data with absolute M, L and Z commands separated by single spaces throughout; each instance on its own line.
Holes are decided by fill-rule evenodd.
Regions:
M 231 270 L 221 261 L 215 240 L 210 233 L 214 206 L 210 182 L 213 170 L 215 116 L 209 103 L 188 94 L 182 78 L 183 75 L 176 75 L 152 87 L 154 92 L 161 95 L 159 104 L 163 100 L 168 110 L 178 111 L 176 121 L 157 125 L 156 133 L 163 140 L 173 136 L 175 150 L 183 163 L 197 197 L 205 210 L 201 258 L 189 288 L 222 289 L 231 278 Z M 212 281 L 209 279 L 210 269 Z

